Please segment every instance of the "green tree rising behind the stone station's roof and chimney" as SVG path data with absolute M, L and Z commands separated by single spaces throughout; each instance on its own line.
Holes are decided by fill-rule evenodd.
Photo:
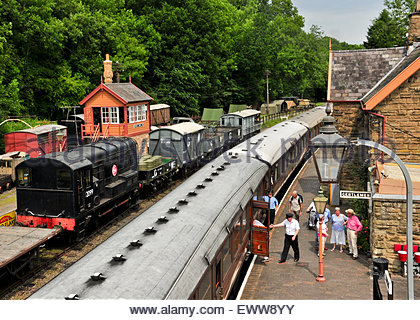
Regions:
M 364 42 L 365 48 L 389 48 L 406 45 L 410 13 L 416 0 L 385 0 L 386 9 L 372 21 Z

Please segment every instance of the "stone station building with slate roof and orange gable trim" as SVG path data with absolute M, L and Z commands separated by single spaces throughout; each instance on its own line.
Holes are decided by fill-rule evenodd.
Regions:
M 420 0 L 410 15 L 407 47 L 331 51 L 327 99 L 339 134 L 369 139 L 407 163 L 414 184 L 413 243 L 420 245 Z M 385 163 L 383 163 L 385 162 Z M 366 170 L 367 167 L 373 171 Z M 360 168 L 370 182 L 360 184 Z M 406 243 L 405 180 L 393 161 L 375 150 L 354 148 L 343 167 L 340 188 L 371 188 L 372 257 L 400 270 L 394 244 Z M 397 171 L 398 171 L 397 170 Z M 362 179 L 363 180 L 363 179 Z

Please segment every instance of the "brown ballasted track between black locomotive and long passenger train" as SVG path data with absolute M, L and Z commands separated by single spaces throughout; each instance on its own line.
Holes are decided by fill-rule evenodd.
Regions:
M 123 228 L 130 221 L 150 208 L 165 195 L 181 184 L 184 179 L 175 181 L 166 190 L 148 199 L 142 200 L 139 205 L 130 207 L 121 214 L 116 215 L 108 223 L 87 235 L 83 240 L 67 246 L 64 241 L 48 245 L 40 249 L 39 258 L 34 263 L 34 268 L 15 281 L 0 284 L 1 300 L 24 300 L 39 288 L 44 286 L 63 270 L 70 267 L 77 260 L 88 254 L 96 246 Z M 55 240 L 55 242 L 60 242 Z

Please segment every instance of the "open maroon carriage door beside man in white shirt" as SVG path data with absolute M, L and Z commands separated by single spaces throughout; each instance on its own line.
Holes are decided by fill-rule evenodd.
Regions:
M 269 202 L 265 202 L 262 198 L 251 200 L 251 252 L 259 256 L 268 257 L 270 254 L 270 231 L 265 226 L 255 225 L 254 221 L 270 221 L 269 215 Z

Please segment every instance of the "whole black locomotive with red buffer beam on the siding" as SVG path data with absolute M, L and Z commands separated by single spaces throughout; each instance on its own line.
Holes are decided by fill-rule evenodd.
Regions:
M 17 222 L 82 234 L 138 193 L 137 143 L 110 138 L 16 167 Z

